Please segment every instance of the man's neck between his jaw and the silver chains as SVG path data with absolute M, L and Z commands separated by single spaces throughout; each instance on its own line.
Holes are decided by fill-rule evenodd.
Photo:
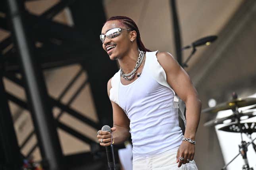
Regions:
M 123 69 L 125 74 L 131 72 L 138 60 L 139 57 L 139 50 L 138 48 L 132 48 L 129 50 L 121 59 L 118 59 L 118 62 Z

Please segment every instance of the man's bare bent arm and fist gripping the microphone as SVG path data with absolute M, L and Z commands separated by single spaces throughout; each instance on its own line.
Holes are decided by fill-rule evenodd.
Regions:
M 110 96 L 110 89 L 111 86 L 111 79 L 108 81 L 108 96 Z M 130 136 L 129 133 L 129 125 L 130 120 L 128 119 L 125 112 L 118 106 L 115 102 L 110 101 L 112 104 L 113 109 L 113 128 L 112 133 L 100 131 L 100 135 L 97 136 L 99 142 L 100 139 L 103 139 L 104 143 L 100 143 L 102 146 L 108 146 L 112 143 L 111 135 L 114 136 L 114 144 L 121 144 L 127 140 L 127 138 Z

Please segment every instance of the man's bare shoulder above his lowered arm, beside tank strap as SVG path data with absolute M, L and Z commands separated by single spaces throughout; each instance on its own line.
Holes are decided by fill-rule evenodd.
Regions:
M 158 52 L 156 53 L 157 60 L 159 64 L 164 68 L 166 72 L 174 72 L 180 68 L 178 62 L 174 57 L 168 52 Z

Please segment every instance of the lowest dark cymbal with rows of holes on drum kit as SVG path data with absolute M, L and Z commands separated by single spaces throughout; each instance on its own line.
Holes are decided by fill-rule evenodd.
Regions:
M 227 125 L 225 127 L 219 128 L 219 130 L 223 130 L 226 132 L 237 132 L 237 133 L 248 133 L 252 134 L 253 132 L 256 132 L 256 123 L 240 123 L 241 128 L 237 123 L 231 123 L 230 125 Z

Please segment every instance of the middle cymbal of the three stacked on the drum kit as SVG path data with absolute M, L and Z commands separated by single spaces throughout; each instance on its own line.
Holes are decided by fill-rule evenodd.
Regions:
M 244 117 L 244 116 L 246 116 L 245 119 L 249 119 L 251 117 L 256 116 L 256 111 L 251 111 L 251 112 L 247 112 L 247 113 L 239 113 L 237 116 L 239 117 L 239 119 L 241 119 L 241 117 Z M 223 123 L 225 123 L 225 121 L 228 121 L 228 120 L 230 120 L 228 123 L 235 122 L 236 121 L 236 116 L 234 114 L 232 114 L 232 115 L 227 116 L 227 117 L 222 117 L 222 118 L 219 118 L 219 119 L 210 120 L 210 121 L 204 123 L 204 126 L 208 127 L 208 126 L 223 124 Z

